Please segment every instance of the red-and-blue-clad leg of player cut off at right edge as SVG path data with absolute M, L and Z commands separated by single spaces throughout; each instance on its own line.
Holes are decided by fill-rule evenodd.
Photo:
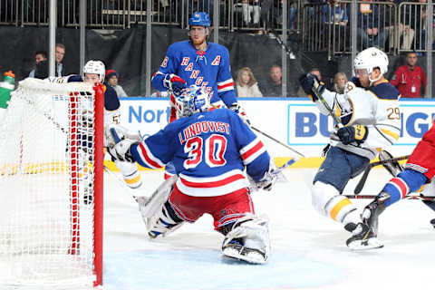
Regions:
M 435 126 L 433 124 L 412 151 L 404 168 L 383 187 L 381 193 L 362 211 L 362 222 L 367 226 L 363 228 L 366 232 L 377 233 L 378 218 L 385 208 L 390 207 L 401 198 L 405 198 L 411 192 L 418 191 L 424 184 L 430 183 L 430 180 L 432 182 L 428 191 L 432 191 L 433 194 L 433 190 L 435 190 L 433 188 L 435 180 L 433 179 L 435 176 Z M 433 203 L 429 202 L 428 206 L 432 208 Z M 435 219 L 432 219 L 430 223 L 435 227 Z M 365 241 L 366 236 L 361 235 L 362 242 Z

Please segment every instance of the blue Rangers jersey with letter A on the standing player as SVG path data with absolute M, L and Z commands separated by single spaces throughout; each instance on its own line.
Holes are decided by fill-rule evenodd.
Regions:
M 234 81 L 225 46 L 208 43 L 207 50 L 198 51 L 188 40 L 169 46 L 160 69 L 152 76 L 152 85 L 158 91 L 167 91 L 163 85 L 165 74 L 174 73 L 187 85 L 203 86 L 210 94 L 211 103 L 222 100 L 227 107 L 237 102 Z

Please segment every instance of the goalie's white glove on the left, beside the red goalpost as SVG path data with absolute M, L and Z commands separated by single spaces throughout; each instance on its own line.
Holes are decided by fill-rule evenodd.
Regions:
M 140 134 L 131 134 L 119 125 L 110 125 L 105 128 L 105 137 L 107 139 L 109 154 L 111 154 L 113 159 L 131 163 L 135 162 L 130 148 L 131 145 L 139 143 L 142 140 Z

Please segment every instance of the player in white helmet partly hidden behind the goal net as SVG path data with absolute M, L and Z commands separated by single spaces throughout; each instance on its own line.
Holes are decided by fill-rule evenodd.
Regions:
M 82 74 L 72 74 L 63 77 L 50 77 L 48 80 L 50 82 L 88 82 L 92 86 L 96 84 L 102 84 L 102 90 L 104 92 L 104 126 L 110 124 L 120 123 L 120 100 L 118 99 L 118 94 L 113 90 L 110 85 L 103 84 L 104 76 L 106 70 L 104 63 L 101 61 L 89 61 L 82 69 Z M 83 111 L 82 113 L 82 124 L 87 122 L 92 122 L 93 115 L 92 111 L 88 113 Z M 85 134 L 82 134 L 84 136 Z M 83 138 L 83 137 L 82 137 Z M 89 137 L 90 138 L 90 137 Z M 106 141 L 106 138 L 104 138 Z M 142 186 L 142 181 L 140 179 L 140 172 L 135 164 L 129 162 L 122 162 L 120 160 L 115 160 L 115 165 L 121 170 L 123 179 L 128 187 L 131 189 L 140 189 Z M 85 168 L 86 169 L 86 168 Z

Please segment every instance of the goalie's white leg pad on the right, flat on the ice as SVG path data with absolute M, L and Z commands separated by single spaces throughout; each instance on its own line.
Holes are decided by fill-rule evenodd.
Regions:
M 247 214 L 234 223 L 222 244 L 222 256 L 265 264 L 270 254 L 267 218 Z

